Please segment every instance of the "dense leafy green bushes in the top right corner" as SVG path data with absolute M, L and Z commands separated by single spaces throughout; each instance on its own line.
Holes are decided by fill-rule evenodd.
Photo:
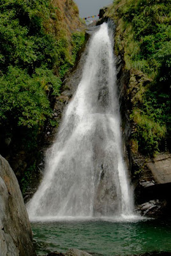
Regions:
M 139 51 L 133 61 L 146 60 L 142 71 L 158 74 L 168 83 L 171 67 L 171 3 L 169 1 L 129 1 L 123 7 L 123 19 L 131 22 L 133 39 L 139 42 Z M 154 76 L 154 75 L 153 75 Z

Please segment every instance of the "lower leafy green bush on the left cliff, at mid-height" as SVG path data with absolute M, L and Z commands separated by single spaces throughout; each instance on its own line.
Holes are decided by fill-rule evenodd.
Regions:
M 15 120 L 18 125 L 42 125 L 50 116 L 48 92 L 54 87 L 59 92 L 60 83 L 51 70 L 36 68 L 29 76 L 26 70 L 9 67 L 0 78 L 0 121 Z

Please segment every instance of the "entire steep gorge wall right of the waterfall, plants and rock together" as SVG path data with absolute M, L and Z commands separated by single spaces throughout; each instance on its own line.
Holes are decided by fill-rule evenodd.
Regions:
M 131 179 L 135 184 L 136 204 L 142 204 L 142 207 L 138 207 L 142 214 L 149 214 L 149 216 L 169 215 L 171 205 L 168 197 L 171 184 L 170 123 L 168 121 L 169 112 L 163 111 L 161 107 L 162 93 L 165 93 L 166 99 L 163 100 L 163 106 L 165 105 L 165 109 L 170 109 L 169 89 L 167 88 L 168 78 L 161 84 L 160 81 L 163 81 L 163 74 L 160 73 L 160 68 L 156 71 L 158 76 L 154 76 L 154 74 L 144 72 L 144 64 L 139 63 L 138 66 L 135 63 L 136 58 L 144 58 L 143 61 L 147 65 L 145 67 L 151 67 L 152 55 L 145 56 L 146 53 L 143 52 L 144 45 L 142 42 L 146 44 L 147 37 L 145 39 L 143 36 L 140 39 L 136 38 L 135 33 L 138 28 L 134 28 L 133 23 L 136 15 L 139 15 L 138 19 L 149 19 L 150 24 L 150 15 L 153 15 L 154 28 L 165 26 L 165 28 L 169 29 L 169 18 L 161 21 L 160 15 L 162 16 L 163 1 L 149 3 L 149 6 L 147 6 L 148 1 L 144 1 L 140 7 L 138 6 L 139 2 L 135 4 L 133 0 L 115 1 L 108 8 L 101 10 L 102 16 L 98 24 L 108 18 L 114 20 L 115 23 L 117 84 L 119 87 L 123 137 L 130 165 Z M 158 17 L 156 17 L 154 8 L 160 10 Z M 142 18 L 142 10 L 147 9 L 149 12 L 145 13 L 144 11 L 144 18 Z M 169 3 L 165 5 L 165 17 L 169 17 L 167 10 L 169 10 Z M 163 25 L 161 25 L 162 22 Z M 151 26 L 149 24 L 146 22 L 147 27 Z M 141 24 L 139 26 L 140 29 L 143 29 Z M 144 33 L 147 33 L 147 36 L 150 34 L 152 38 L 153 32 L 150 30 L 152 27 L 148 27 L 148 29 L 149 32 L 146 32 L 144 28 Z M 165 37 L 165 40 L 163 42 L 161 39 L 161 47 L 162 44 L 168 44 L 167 37 Z M 140 44 L 142 44 L 142 48 L 140 48 Z M 156 51 L 156 55 L 151 53 L 154 54 L 153 58 L 156 58 L 159 51 L 161 51 L 161 49 L 157 48 L 157 45 L 155 47 L 156 49 L 153 51 Z M 149 50 L 146 48 L 146 51 L 148 52 Z M 167 54 L 168 56 L 171 54 L 169 50 L 167 50 Z M 167 66 L 167 64 L 158 64 L 161 69 L 162 66 Z M 168 73 L 169 76 L 170 74 Z M 159 112 L 160 115 L 158 115 Z M 147 115 L 147 113 L 149 114 Z M 163 136 L 162 132 L 165 131 L 165 125 L 167 125 L 168 132 Z M 154 127 L 156 127 L 156 130 Z M 159 130 L 157 131 L 158 127 L 159 130 L 161 129 L 161 133 Z M 156 151 L 158 151 L 157 155 L 155 155 Z

